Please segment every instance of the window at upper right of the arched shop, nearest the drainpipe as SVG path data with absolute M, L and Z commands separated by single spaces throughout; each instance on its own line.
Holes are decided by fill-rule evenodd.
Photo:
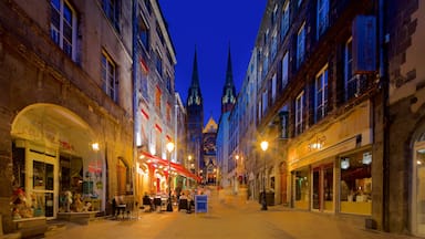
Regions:
M 111 56 L 105 52 L 102 53 L 102 89 L 105 93 L 114 101 L 117 101 L 116 97 L 116 66 Z

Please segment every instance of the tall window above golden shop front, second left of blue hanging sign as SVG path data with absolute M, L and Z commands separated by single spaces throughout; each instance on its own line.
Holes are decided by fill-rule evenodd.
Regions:
M 328 65 L 315 77 L 314 116 L 319 122 L 328 114 Z

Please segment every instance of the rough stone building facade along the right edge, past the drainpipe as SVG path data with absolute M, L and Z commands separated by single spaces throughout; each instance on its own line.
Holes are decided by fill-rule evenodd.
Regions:
M 385 20 L 384 228 L 425 237 L 425 2 L 388 1 Z

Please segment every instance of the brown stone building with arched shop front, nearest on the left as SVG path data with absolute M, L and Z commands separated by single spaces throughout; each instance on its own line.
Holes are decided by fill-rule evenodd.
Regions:
M 65 191 L 95 211 L 133 194 L 131 12 L 129 1 L 0 1 L 4 232 L 66 211 Z

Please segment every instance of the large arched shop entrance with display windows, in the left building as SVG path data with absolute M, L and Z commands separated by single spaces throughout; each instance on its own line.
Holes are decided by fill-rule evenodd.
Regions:
M 13 218 L 55 218 L 58 212 L 103 210 L 105 163 L 102 144 L 73 112 L 33 104 L 12 127 Z M 72 196 L 71 196 L 72 195 Z M 70 207 L 66 201 L 73 200 Z

